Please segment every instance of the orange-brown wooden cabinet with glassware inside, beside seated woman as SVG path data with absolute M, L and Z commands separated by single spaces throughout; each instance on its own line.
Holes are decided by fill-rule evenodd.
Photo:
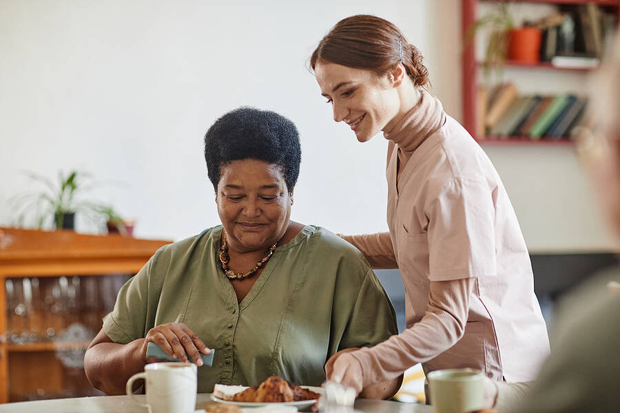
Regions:
M 0 228 L 0 403 L 97 394 L 83 352 L 163 240 Z

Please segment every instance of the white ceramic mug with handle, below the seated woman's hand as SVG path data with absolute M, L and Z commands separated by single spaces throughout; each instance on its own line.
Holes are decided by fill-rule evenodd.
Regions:
M 141 403 L 132 392 L 137 379 L 146 381 L 146 403 Z M 196 410 L 197 384 L 194 363 L 149 363 L 143 373 L 130 377 L 125 390 L 134 403 L 147 407 L 149 413 L 192 413 Z

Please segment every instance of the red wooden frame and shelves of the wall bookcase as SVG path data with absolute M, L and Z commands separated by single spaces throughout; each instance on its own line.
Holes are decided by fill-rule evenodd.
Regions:
M 619 0 L 508 0 L 511 3 L 531 3 L 541 5 L 576 5 L 592 3 L 597 6 L 605 7 L 610 10 L 614 10 L 614 14 L 620 17 L 620 1 Z M 468 29 L 480 18 L 478 14 L 479 3 L 499 3 L 499 0 L 462 0 L 462 34 L 463 39 L 468 36 Z M 570 145 L 570 140 L 528 140 L 518 139 L 515 137 L 510 138 L 493 138 L 490 136 L 484 136 L 484 131 L 477 130 L 477 86 L 479 84 L 479 72 L 482 62 L 476 59 L 475 42 L 468 43 L 464 48 L 462 57 L 462 82 L 463 82 L 463 126 L 467 131 L 482 144 L 486 143 L 499 143 L 499 144 L 524 144 L 524 145 Z M 519 70 L 523 74 L 520 76 L 521 81 L 525 81 L 523 76 L 537 72 L 548 72 L 548 76 L 554 76 L 561 72 L 581 72 L 587 73 L 592 69 L 588 68 L 560 68 L 551 65 L 548 62 L 539 62 L 534 64 L 524 64 L 506 61 L 506 69 Z M 517 82 L 518 83 L 518 82 Z M 583 79 L 581 79 L 583 83 Z M 566 85 L 566 90 L 570 88 Z M 544 92 L 544 91 L 541 91 Z

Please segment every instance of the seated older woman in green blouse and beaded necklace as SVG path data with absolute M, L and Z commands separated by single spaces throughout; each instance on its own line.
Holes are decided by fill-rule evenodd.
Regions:
M 397 332 L 393 308 L 362 254 L 318 226 L 290 220 L 301 160 L 298 131 L 276 113 L 243 107 L 205 136 L 222 225 L 163 246 L 118 293 L 85 355 L 95 388 L 124 394 L 149 341 L 202 366 L 198 392 L 256 385 L 276 374 L 320 385 L 347 348 Z M 400 379 L 364 389 L 391 396 Z

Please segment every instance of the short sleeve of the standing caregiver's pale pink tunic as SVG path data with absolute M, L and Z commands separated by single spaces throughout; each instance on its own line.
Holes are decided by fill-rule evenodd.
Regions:
M 429 198 L 431 281 L 497 273 L 493 191 L 484 182 L 453 179 Z

